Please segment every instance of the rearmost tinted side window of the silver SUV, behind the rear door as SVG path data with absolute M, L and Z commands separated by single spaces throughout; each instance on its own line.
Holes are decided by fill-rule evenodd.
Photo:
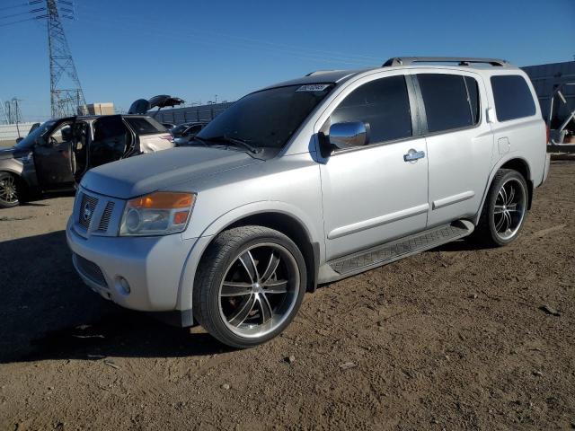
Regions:
M 523 76 L 491 76 L 491 87 L 498 121 L 535 115 L 535 101 Z

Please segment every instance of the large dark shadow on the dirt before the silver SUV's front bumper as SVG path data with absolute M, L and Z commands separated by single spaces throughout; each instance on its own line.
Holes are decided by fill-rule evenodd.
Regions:
M 205 333 L 167 326 L 94 294 L 75 274 L 64 231 L 0 242 L 0 293 L 0 363 L 228 350 Z

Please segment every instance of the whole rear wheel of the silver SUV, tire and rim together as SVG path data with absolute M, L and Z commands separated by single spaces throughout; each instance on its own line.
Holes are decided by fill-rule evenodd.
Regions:
M 493 180 L 474 237 L 491 247 L 514 242 L 525 223 L 529 193 L 523 175 L 500 169 Z

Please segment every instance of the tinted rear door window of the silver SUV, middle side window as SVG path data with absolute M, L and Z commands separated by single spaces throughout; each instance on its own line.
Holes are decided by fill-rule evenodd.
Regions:
M 438 132 L 473 125 L 464 77 L 461 75 L 417 75 L 428 131 Z

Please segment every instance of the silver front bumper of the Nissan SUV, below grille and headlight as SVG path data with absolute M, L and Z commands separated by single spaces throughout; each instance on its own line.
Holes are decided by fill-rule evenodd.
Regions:
M 76 271 L 105 299 L 132 310 L 170 312 L 177 308 L 182 274 L 197 239 L 182 240 L 179 234 L 84 238 L 71 217 L 66 240 Z

